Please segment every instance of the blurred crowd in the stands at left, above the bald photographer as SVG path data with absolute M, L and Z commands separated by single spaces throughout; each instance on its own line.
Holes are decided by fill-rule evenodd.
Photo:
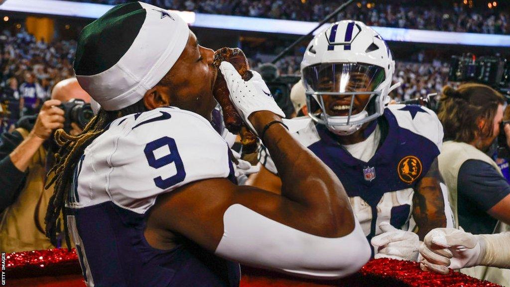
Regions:
M 49 98 L 52 87 L 73 75 L 75 41 L 47 44 L 21 29 L 0 35 L 0 102 L 10 125 L 21 115 L 35 114 Z M 5 114 L 5 113 L 4 113 Z

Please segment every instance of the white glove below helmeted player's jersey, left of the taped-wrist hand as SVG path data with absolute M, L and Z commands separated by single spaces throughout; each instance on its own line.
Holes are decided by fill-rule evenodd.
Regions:
M 411 231 L 396 229 L 389 222 L 381 222 L 383 233 L 374 236 L 370 243 L 374 246 L 374 258 L 393 258 L 398 260 L 418 260 L 420 238 Z

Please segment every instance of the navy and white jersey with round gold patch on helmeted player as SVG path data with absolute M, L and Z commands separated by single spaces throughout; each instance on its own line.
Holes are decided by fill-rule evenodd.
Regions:
M 375 145 L 370 150 L 377 149 L 367 161 L 352 156 L 325 126 L 312 121 L 292 134 L 338 176 L 369 239 L 382 232 L 378 225 L 384 221 L 403 230 L 414 227 L 414 188 L 439 155 L 443 140 L 441 122 L 425 107 L 389 105 L 382 117 L 387 123 L 386 137 L 381 143 L 373 139 L 368 142 L 370 137 L 364 142 Z M 367 130 L 380 129 L 375 126 L 376 122 Z M 372 135 L 378 132 L 375 130 Z M 264 146 L 259 150 L 259 162 L 270 172 L 277 173 Z M 453 226 L 446 194 L 443 199 L 447 225 Z

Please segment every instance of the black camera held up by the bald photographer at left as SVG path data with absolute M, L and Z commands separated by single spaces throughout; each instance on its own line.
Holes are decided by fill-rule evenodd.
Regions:
M 59 108 L 64 110 L 64 130 L 71 130 L 71 123 L 76 123 L 81 129 L 90 122 L 94 116 L 90 104 L 85 103 L 84 100 L 71 99 L 68 102 L 62 103 Z

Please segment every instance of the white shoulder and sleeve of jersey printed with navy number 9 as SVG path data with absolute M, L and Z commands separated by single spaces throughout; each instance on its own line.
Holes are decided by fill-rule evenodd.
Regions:
M 97 170 L 104 161 L 106 191 L 116 204 L 143 213 L 160 194 L 233 171 L 227 143 L 205 118 L 172 108 L 135 117 L 113 122 L 103 147 L 85 154 Z

